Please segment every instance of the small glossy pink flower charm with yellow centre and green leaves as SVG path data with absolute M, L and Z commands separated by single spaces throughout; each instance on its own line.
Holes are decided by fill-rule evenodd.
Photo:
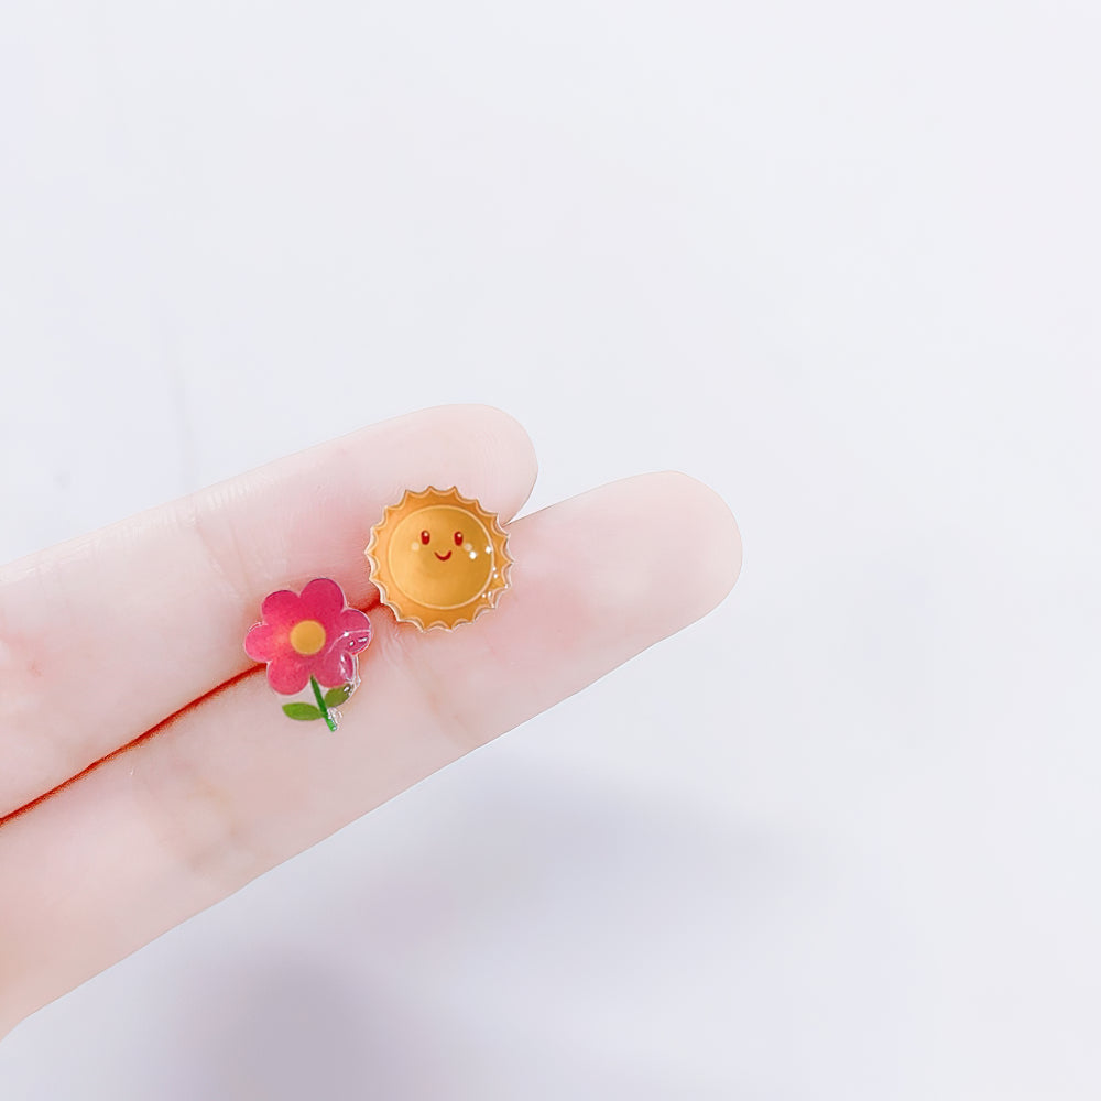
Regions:
M 318 577 L 301 593 L 281 589 L 261 607 L 263 621 L 244 640 L 244 652 L 254 662 L 268 663 L 268 683 L 283 696 L 307 685 L 313 704 L 285 704 L 292 719 L 325 719 L 336 730 L 329 708 L 344 702 L 359 683 L 356 655 L 371 641 L 371 621 L 348 608 L 336 581 Z M 321 687 L 330 691 L 321 694 Z

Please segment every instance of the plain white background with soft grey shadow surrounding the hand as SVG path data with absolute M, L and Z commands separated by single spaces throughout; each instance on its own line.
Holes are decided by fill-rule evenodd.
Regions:
M 450 401 L 745 542 L 4 1101 L 1101 1094 L 1099 19 L 4 4 L 0 557 Z

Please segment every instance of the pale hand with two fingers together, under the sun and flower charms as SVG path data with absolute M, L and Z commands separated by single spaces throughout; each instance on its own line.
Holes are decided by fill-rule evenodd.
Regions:
M 512 588 L 477 622 L 396 624 L 362 565 L 384 506 L 454 483 L 508 523 L 535 473 L 505 414 L 428 410 L 0 569 L 0 1034 L 733 585 L 723 502 L 646 475 L 509 525 Z M 607 553 L 655 516 L 677 541 Z M 264 596 L 313 577 L 375 631 L 333 737 L 285 719 L 241 644 Z

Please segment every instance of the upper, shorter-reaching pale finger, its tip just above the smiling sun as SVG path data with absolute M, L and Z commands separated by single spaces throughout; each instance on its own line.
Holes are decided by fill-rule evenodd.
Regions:
M 511 516 L 535 456 L 498 410 L 448 406 L 323 444 L 0 573 L 0 816 L 251 664 L 272 589 L 328 576 L 374 599 L 370 528 L 406 488 Z

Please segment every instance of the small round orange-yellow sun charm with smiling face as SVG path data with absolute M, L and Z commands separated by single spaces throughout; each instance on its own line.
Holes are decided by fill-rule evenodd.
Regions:
M 509 587 L 509 536 L 454 487 L 406 490 L 367 545 L 371 580 L 399 621 L 450 630 L 492 608 Z

